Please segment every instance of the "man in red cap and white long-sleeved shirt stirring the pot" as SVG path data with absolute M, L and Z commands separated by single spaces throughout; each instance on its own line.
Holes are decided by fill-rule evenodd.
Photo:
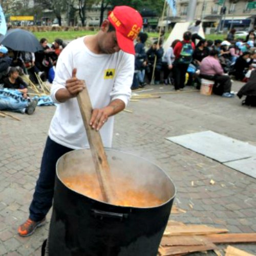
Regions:
M 52 206 L 57 160 L 69 151 L 89 148 L 76 99 L 85 87 L 93 106 L 90 126 L 100 132 L 105 147 L 112 146 L 113 116 L 125 108 L 131 97 L 134 39 L 141 27 L 142 17 L 135 9 L 117 6 L 97 34 L 73 40 L 59 55 L 51 87 L 52 100 L 58 105 L 50 124 L 29 218 L 18 227 L 19 236 L 30 236 L 45 224 Z

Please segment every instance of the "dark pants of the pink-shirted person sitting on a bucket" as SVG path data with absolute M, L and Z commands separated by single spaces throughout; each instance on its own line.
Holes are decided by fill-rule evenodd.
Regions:
M 201 78 L 209 79 L 215 81 L 214 93 L 217 95 L 222 95 L 223 93 L 230 93 L 231 90 L 231 79 L 228 75 L 200 75 Z

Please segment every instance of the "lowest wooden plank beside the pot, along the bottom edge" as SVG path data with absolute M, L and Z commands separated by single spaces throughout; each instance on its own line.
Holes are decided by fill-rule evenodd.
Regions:
M 177 255 L 177 254 L 187 254 L 197 251 L 209 251 L 216 250 L 217 246 L 215 244 L 209 243 L 206 245 L 191 245 L 191 246 L 168 246 L 159 247 L 159 253 L 163 256 Z

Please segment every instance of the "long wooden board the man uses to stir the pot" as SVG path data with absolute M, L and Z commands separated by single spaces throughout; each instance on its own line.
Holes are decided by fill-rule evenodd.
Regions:
M 86 127 L 87 138 L 90 144 L 91 153 L 101 189 L 103 201 L 113 201 L 113 193 L 110 187 L 110 166 L 106 159 L 100 133 L 90 126 L 92 116 L 92 103 L 87 88 L 77 95 L 78 105 L 82 115 L 84 127 Z

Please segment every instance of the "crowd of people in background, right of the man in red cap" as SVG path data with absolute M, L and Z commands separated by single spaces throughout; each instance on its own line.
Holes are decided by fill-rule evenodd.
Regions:
M 140 32 L 135 45 L 132 90 L 152 81 L 172 84 L 176 91 L 193 84 L 199 89 L 204 78 L 214 81 L 215 94 L 233 97 L 231 76 L 247 82 L 256 68 L 256 34 L 251 30 L 244 40 L 235 38 L 236 29 L 231 29 L 225 40 L 206 40 L 199 35 L 200 23 L 197 20 L 195 25 L 188 26 L 183 39 L 174 40 L 166 51 L 162 47 L 163 37 L 146 50 L 147 34 Z

